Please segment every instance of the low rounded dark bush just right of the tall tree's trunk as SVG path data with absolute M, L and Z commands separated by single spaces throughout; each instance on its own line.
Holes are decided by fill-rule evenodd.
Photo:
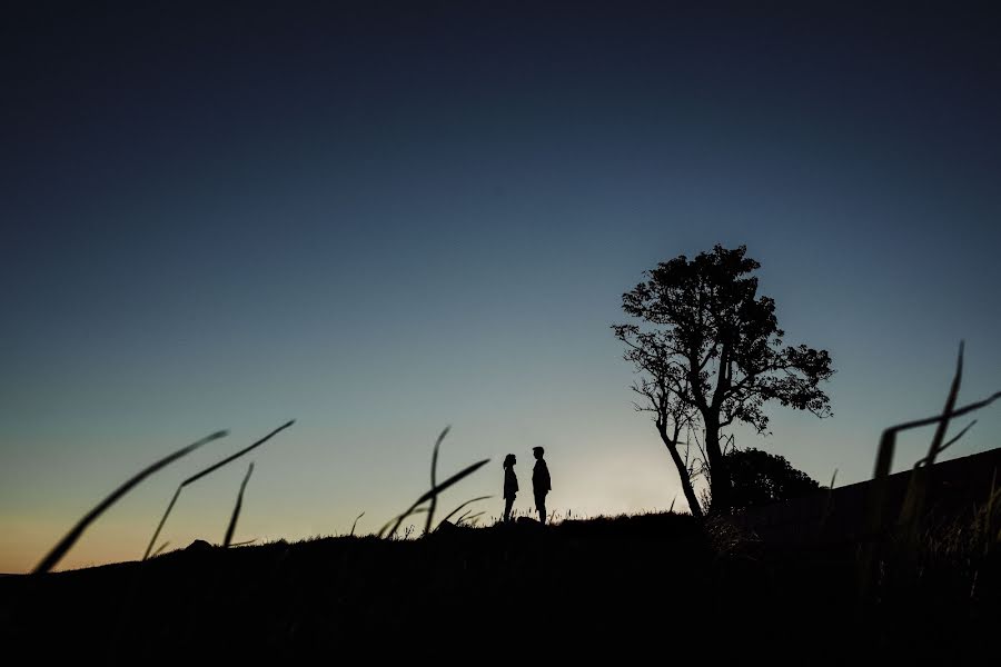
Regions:
M 820 488 L 820 484 L 793 468 L 782 456 L 752 447 L 732 449 L 725 458 L 733 484 L 731 505 L 735 508 L 790 500 Z

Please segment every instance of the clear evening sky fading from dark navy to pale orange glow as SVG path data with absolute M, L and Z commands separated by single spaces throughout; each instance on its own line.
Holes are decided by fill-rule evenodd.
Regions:
M 180 480 L 293 418 L 185 490 L 168 549 L 222 540 L 250 460 L 235 540 L 377 531 L 448 425 L 439 478 L 490 462 L 442 512 L 493 495 L 493 522 L 508 452 L 529 512 L 537 445 L 557 518 L 683 509 L 609 327 L 715 243 L 836 369 L 833 417 L 775 406 L 739 446 L 853 484 L 941 409 L 960 340 L 960 401 L 1001 389 L 988 3 L 26 4 L 0 22 L 0 573 L 229 429 L 60 567 L 141 557 Z M 1001 445 L 1001 407 L 977 418 L 945 458 Z

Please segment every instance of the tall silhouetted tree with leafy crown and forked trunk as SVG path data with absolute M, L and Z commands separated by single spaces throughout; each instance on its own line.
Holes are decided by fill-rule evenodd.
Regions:
M 761 265 L 746 247 L 715 246 L 688 260 L 684 255 L 644 275 L 622 296 L 622 308 L 641 323 L 614 325 L 626 345 L 624 357 L 642 374 L 634 387 L 655 414 L 661 439 L 672 454 L 693 514 L 693 468 L 680 456 L 682 429 L 704 432 L 704 472 L 713 510 L 732 506 L 731 478 L 721 448 L 721 429 L 734 421 L 767 430 L 769 401 L 817 417 L 831 414 L 820 382 L 833 375 L 826 350 L 783 345 L 775 302 L 757 296 Z

